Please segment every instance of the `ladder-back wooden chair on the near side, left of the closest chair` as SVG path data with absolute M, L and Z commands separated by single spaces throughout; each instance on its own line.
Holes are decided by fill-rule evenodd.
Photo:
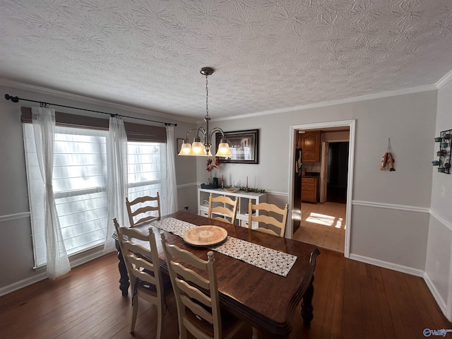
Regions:
M 165 289 L 160 271 L 160 261 L 158 258 L 157 245 L 152 227 L 149 234 L 143 234 L 133 228 L 120 227 L 117 219 L 114 218 L 119 246 L 121 247 L 127 273 L 129 273 L 132 297 L 132 313 L 129 332 L 135 329 L 136 316 L 138 314 L 138 300 L 144 299 L 157 306 L 157 336 L 161 338 L 163 307 L 165 306 Z M 148 242 L 150 249 L 133 242 L 138 239 L 141 242 Z M 148 260 L 147 258 L 150 258 Z

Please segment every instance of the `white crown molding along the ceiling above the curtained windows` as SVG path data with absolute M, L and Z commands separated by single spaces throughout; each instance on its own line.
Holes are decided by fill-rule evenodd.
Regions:
M 36 85 L 30 85 L 27 83 L 20 83 L 18 81 L 11 81 L 11 80 L 4 79 L 4 78 L 0 78 L 0 85 L 4 85 L 6 87 L 11 87 L 11 88 L 16 88 L 18 90 L 29 90 L 31 92 L 41 93 L 43 95 L 53 95 L 55 97 L 61 97 L 66 100 L 73 100 L 73 101 L 89 103 L 89 104 L 93 104 L 93 105 L 99 105 L 102 107 L 109 107 L 112 109 L 119 109 L 123 112 L 125 111 L 125 112 L 144 114 L 147 117 L 149 115 L 152 115 L 152 117 L 157 117 L 157 118 L 162 118 L 162 119 L 173 119 L 174 121 L 178 121 L 178 122 L 183 121 L 183 122 L 187 122 L 189 124 L 194 124 L 194 119 L 178 116 L 175 114 L 165 114 L 165 113 L 161 113 L 161 112 L 152 111 L 150 109 L 143 109 L 143 108 L 139 108 L 139 107 L 117 104 L 115 102 L 94 99 L 93 97 L 85 97 L 83 95 L 71 94 L 71 93 L 67 93 L 67 92 L 62 92 L 61 90 L 52 90 L 49 88 L 44 88 L 44 87 L 36 86 Z M 10 95 L 14 96 L 13 93 L 11 93 Z

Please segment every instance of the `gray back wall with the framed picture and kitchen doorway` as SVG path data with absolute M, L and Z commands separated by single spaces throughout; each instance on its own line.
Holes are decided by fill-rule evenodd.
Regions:
M 215 114 L 212 114 L 215 117 Z M 422 275 L 425 267 L 432 187 L 436 91 L 398 95 L 297 112 L 212 121 L 224 131 L 260 130 L 258 165 L 222 164 L 232 180 L 268 191 L 286 203 L 292 145 L 290 126 L 356 120 L 355 177 L 352 192 L 350 257 Z M 388 147 L 396 172 L 381 171 Z M 207 176 L 198 160 L 198 182 Z M 377 240 L 377 241 L 376 241 Z

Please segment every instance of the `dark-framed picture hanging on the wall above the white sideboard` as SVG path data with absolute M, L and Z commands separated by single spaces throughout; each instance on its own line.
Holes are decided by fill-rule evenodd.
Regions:
M 215 133 L 215 150 L 222 138 L 221 133 Z M 259 163 L 259 130 L 249 129 L 246 131 L 225 132 L 225 138 L 229 143 L 232 157 L 218 157 L 218 162 L 230 162 L 236 164 L 258 164 Z M 216 153 L 216 152 L 215 152 Z

